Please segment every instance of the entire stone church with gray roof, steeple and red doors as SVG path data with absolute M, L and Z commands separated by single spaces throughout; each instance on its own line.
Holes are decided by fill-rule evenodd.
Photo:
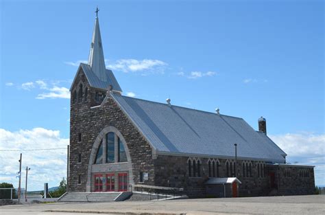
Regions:
M 134 83 L 135 84 L 135 83 Z M 148 89 L 149 90 L 149 89 Z M 243 118 L 123 95 L 106 69 L 99 19 L 71 85 L 69 192 L 180 188 L 190 197 L 313 194 L 313 166 Z

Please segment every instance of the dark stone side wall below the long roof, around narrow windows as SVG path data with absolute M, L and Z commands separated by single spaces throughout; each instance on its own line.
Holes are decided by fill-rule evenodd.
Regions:
M 201 177 L 189 177 L 189 157 L 158 155 L 155 166 L 155 185 L 184 188 L 192 196 L 205 196 L 204 183 L 208 180 L 208 158 L 200 157 Z M 218 159 L 220 162 L 219 177 L 227 177 L 227 159 Z M 232 160 L 234 161 L 234 160 Z M 258 177 L 257 161 L 252 162 L 252 177 L 243 177 L 241 163 L 237 160 L 236 174 L 241 185 L 239 185 L 239 196 L 265 196 L 269 193 L 269 179 Z M 265 171 L 267 171 L 265 169 Z

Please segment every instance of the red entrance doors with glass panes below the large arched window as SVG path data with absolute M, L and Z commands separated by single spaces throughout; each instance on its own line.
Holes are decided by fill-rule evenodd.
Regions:
M 118 191 L 128 191 L 128 173 L 118 173 Z M 94 175 L 95 192 L 114 192 L 115 191 L 115 173 L 95 174 Z M 106 190 L 103 184 L 106 183 Z

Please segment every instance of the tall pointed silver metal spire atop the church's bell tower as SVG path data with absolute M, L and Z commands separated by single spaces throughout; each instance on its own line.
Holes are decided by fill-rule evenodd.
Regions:
M 95 27 L 93 31 L 93 38 L 91 40 L 91 52 L 89 53 L 88 65 L 91 66 L 91 70 L 100 80 L 107 81 L 104 51 L 99 30 L 98 11 L 99 10 L 97 8 L 95 11 Z

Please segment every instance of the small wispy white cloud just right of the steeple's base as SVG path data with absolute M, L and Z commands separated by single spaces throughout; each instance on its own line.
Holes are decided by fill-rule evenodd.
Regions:
M 113 69 L 117 71 L 128 72 L 141 72 L 143 75 L 149 73 L 164 73 L 164 68 L 167 63 L 162 60 L 135 60 L 135 59 L 121 59 L 116 60 L 107 66 L 108 69 Z

